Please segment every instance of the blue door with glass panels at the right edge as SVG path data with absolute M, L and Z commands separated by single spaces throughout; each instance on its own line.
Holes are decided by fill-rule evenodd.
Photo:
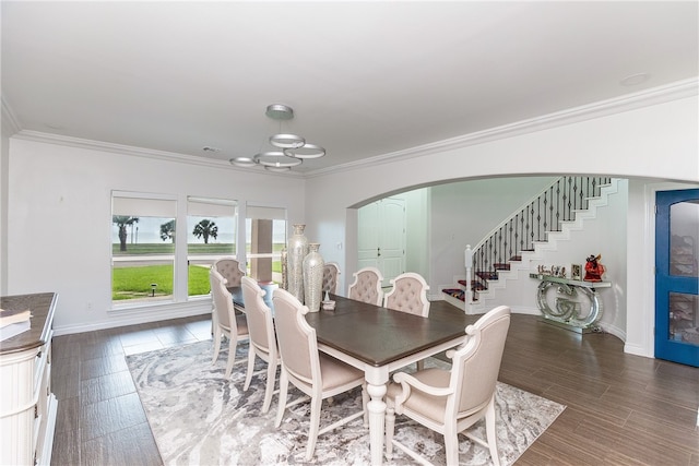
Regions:
M 699 189 L 655 202 L 655 357 L 699 367 Z

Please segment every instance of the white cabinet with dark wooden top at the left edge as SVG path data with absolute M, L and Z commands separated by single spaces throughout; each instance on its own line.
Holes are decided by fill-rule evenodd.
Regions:
M 0 342 L 0 464 L 51 462 L 58 401 L 51 393 L 57 295 L 0 297 L 0 308 L 32 312 L 31 328 Z

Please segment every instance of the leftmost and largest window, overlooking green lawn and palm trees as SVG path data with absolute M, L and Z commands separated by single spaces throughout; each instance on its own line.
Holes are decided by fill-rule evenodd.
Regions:
M 157 194 L 112 192 L 112 302 L 173 300 L 177 201 Z

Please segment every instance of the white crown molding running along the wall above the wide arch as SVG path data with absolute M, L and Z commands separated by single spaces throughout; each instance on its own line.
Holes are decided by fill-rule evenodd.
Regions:
M 483 144 L 486 142 L 502 140 L 507 138 L 518 136 L 522 134 L 533 133 L 566 124 L 578 123 L 595 118 L 607 117 L 611 115 L 621 113 L 642 107 L 664 104 L 680 98 L 691 97 L 699 94 L 699 79 L 691 77 L 684 81 L 677 81 L 664 86 L 657 86 L 640 91 L 633 94 L 627 94 L 621 97 L 615 97 L 607 100 L 600 100 L 593 104 L 573 107 L 554 113 L 518 121 L 516 123 L 503 124 L 501 127 L 490 128 L 457 138 L 451 138 L 435 143 L 424 144 L 403 151 L 396 151 L 376 157 L 364 158 L 362 160 L 348 164 L 337 165 L 335 167 L 321 168 L 305 174 L 306 178 L 350 171 L 365 166 L 376 167 L 381 164 L 390 164 L 396 160 L 405 160 L 408 158 L 423 157 L 440 152 L 453 151 L 472 145 Z

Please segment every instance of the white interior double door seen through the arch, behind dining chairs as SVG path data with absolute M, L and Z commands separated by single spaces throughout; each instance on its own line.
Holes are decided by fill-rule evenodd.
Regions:
M 405 272 L 405 200 L 388 198 L 358 211 L 359 268 L 374 266 L 383 275 L 382 286 Z

